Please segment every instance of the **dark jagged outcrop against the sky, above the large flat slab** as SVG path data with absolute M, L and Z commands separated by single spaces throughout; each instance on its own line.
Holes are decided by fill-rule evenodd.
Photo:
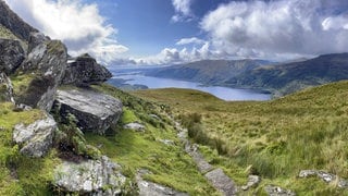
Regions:
M 84 86 L 109 79 L 112 74 L 89 54 L 83 54 L 69 61 L 63 84 Z

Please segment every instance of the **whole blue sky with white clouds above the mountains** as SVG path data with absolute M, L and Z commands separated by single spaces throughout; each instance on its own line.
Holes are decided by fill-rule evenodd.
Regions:
M 109 64 L 273 61 L 348 50 L 347 0 L 5 0 L 72 56 Z

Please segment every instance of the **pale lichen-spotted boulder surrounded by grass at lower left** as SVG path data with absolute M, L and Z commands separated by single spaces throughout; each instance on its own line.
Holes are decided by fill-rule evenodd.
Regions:
M 29 157 L 42 157 L 52 146 L 57 130 L 55 121 L 48 114 L 33 124 L 17 124 L 14 127 L 13 140 L 20 144 L 21 152 Z

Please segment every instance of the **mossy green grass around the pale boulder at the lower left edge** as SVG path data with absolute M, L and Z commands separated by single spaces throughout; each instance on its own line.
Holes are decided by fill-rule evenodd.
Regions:
M 39 110 L 14 112 L 10 102 L 0 102 L 0 195 L 47 195 L 52 168 L 59 161 L 54 150 L 46 158 L 20 155 L 12 142 L 15 124 L 30 124 L 41 119 Z

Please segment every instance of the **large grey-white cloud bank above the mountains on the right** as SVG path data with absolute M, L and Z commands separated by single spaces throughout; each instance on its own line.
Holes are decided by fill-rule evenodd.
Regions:
M 341 11 L 347 8 L 347 1 L 340 0 L 232 1 L 208 13 L 201 28 L 214 48 L 229 56 L 344 52 L 348 14 Z

